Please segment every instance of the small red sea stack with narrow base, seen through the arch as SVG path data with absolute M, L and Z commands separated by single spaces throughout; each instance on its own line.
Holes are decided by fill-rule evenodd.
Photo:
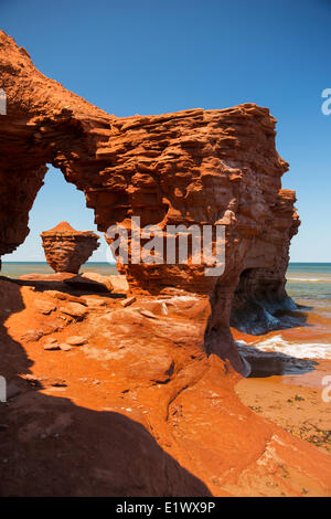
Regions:
M 78 274 L 81 266 L 98 248 L 99 236 L 92 231 L 75 231 L 67 222 L 41 234 L 47 264 L 55 272 Z

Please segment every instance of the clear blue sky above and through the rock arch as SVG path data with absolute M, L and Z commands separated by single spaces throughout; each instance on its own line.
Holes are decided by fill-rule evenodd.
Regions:
M 0 20 L 41 72 L 117 116 L 269 107 L 302 220 L 291 261 L 331 262 L 331 0 L 0 0 Z M 61 220 L 95 229 L 84 200 L 51 170 L 3 260 L 43 261 L 39 233 Z

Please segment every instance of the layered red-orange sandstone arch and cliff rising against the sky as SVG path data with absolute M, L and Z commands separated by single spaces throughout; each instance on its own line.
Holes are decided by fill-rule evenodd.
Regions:
M 43 76 L 3 32 L 0 72 L 8 96 L 8 115 L 0 117 L 0 255 L 13 251 L 29 232 L 29 210 L 45 163 L 60 168 L 85 192 L 99 231 L 114 224 L 129 229 L 131 216 L 162 232 L 167 225 L 223 224 L 222 276 L 205 276 L 205 265 L 190 261 L 119 263 L 118 269 L 134 294 L 193 293 L 209 300 L 207 354 L 229 359 L 245 372 L 229 332 L 241 275 L 256 269 L 258 287 L 235 296 L 244 308 L 241 321 L 249 311 L 246 299 L 261 293 L 287 298 L 288 247 L 299 224 L 295 192 L 281 189 L 288 165 L 276 151 L 276 120 L 269 110 L 244 104 L 117 118 Z M 273 283 L 266 285 L 266 277 Z

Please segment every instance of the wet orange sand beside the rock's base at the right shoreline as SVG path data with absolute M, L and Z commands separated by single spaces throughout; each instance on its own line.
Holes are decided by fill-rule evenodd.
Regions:
M 270 358 L 261 359 L 264 366 L 259 366 L 259 372 L 253 372 L 253 377 L 237 384 L 236 392 L 241 401 L 260 416 L 328 452 L 331 452 L 331 402 L 323 401 L 327 385 L 322 382 L 327 375 L 331 380 L 330 350 L 327 348 L 324 353 L 327 359 L 318 359 L 313 357 L 317 351 L 313 345 L 330 343 L 330 320 L 321 318 L 320 313 L 313 310 L 307 313 L 306 326 L 288 330 L 258 337 L 233 330 L 236 340 L 252 345 L 253 349 L 254 345 L 268 345 L 273 339 L 277 346 L 279 338 L 284 354 L 281 358 L 276 352 L 267 353 L 275 356 L 274 362 L 270 362 Z M 305 353 L 300 359 L 287 353 L 293 350 L 299 352 L 300 348 L 305 348 L 309 358 L 305 359 Z M 273 350 L 265 348 L 268 349 Z M 328 395 L 331 398 L 331 390 Z

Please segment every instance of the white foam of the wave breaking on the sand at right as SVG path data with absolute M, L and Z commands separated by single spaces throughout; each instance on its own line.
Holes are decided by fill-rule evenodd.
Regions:
M 285 353 L 297 359 L 330 359 L 331 360 L 331 345 L 323 342 L 301 342 L 291 343 L 282 339 L 281 336 L 274 336 L 265 339 L 261 342 L 248 343 L 239 340 L 239 346 L 253 346 L 255 350 Z

